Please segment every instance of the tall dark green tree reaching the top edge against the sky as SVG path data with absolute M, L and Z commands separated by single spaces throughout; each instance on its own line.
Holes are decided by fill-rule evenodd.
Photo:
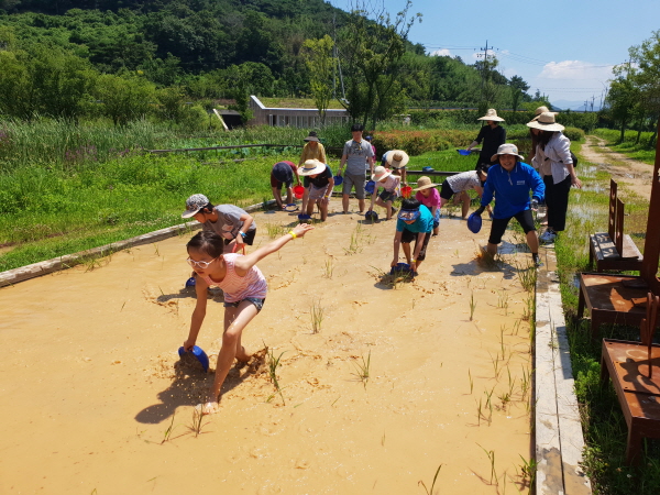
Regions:
M 395 82 L 406 40 L 415 20 L 421 18 L 421 14 L 408 18 L 410 6 L 407 0 L 404 10 L 392 20 L 384 8 L 375 10 L 369 0 L 355 0 L 348 23 L 340 31 L 340 63 L 348 79 L 348 100 L 340 101 L 363 125 L 371 120 L 375 128 L 380 119 L 397 110 L 392 103 L 398 100 L 394 92 L 399 86 Z

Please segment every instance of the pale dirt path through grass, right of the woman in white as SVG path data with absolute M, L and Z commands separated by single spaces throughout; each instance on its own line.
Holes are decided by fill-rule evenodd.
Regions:
M 586 136 L 586 143 L 582 146 L 581 154 L 588 162 L 596 164 L 600 170 L 607 172 L 619 187 L 625 186 L 629 193 L 639 195 L 646 200 L 651 197 L 652 165 L 613 152 L 605 146 L 604 140 L 595 135 Z M 580 164 L 578 168 L 580 175 Z

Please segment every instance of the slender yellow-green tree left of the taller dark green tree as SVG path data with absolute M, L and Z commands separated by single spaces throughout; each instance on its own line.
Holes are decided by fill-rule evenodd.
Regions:
M 326 124 L 326 113 L 332 98 L 332 78 L 337 68 L 337 59 L 332 56 L 334 42 L 327 34 L 320 40 L 306 40 L 305 58 L 309 69 L 309 86 L 314 102 L 319 111 L 321 125 Z

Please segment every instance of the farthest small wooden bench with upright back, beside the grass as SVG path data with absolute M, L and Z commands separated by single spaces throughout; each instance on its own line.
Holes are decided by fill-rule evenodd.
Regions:
M 625 204 L 617 197 L 617 184 L 609 179 L 607 232 L 588 237 L 588 266 L 596 272 L 605 270 L 639 272 L 644 256 L 630 235 L 624 234 Z

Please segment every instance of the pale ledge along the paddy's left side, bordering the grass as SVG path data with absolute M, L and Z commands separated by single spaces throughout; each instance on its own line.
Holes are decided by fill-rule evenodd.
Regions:
M 267 206 L 275 204 L 272 199 L 267 201 Z M 252 205 L 245 208 L 245 211 L 257 211 L 264 207 L 263 202 Z M 40 277 L 53 272 L 61 270 L 70 268 L 72 266 L 82 263 L 85 260 L 94 257 L 103 257 L 121 250 L 133 248 L 141 244 L 150 244 L 152 242 L 162 241 L 163 239 L 173 238 L 185 232 L 190 232 L 200 229 L 201 224 L 198 221 L 191 221 L 180 223 L 178 226 L 168 227 L 166 229 L 156 230 L 148 232 L 135 238 L 127 239 L 124 241 L 113 242 L 106 244 L 100 248 L 92 248 L 91 250 L 81 251 L 75 254 L 67 254 L 61 257 L 54 257 L 40 263 L 33 263 L 32 265 L 21 266 L 20 268 L 8 270 L 7 272 L 0 272 L 0 287 L 7 287 L 8 285 L 18 284 L 19 282 L 29 280 L 30 278 Z

